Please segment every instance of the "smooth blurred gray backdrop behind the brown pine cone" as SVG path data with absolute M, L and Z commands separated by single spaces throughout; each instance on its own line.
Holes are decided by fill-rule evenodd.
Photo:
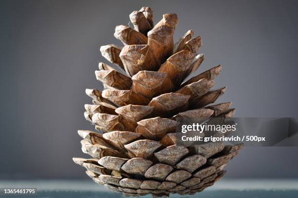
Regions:
M 128 24 L 147 5 L 155 23 L 177 13 L 175 38 L 193 29 L 203 38 L 198 72 L 222 64 L 220 102 L 236 116 L 298 117 L 298 1 L 0 1 L 0 178 L 86 178 L 72 157 L 90 102 L 85 88 L 102 86 L 94 76 L 106 62 L 99 47 L 120 44 L 114 27 Z M 298 177 L 298 148 L 244 148 L 226 177 Z

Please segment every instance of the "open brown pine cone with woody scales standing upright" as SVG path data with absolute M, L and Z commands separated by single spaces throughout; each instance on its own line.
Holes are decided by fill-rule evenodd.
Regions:
M 128 197 L 195 194 L 220 180 L 225 165 L 243 146 L 176 145 L 177 117 L 233 116 L 230 102 L 207 106 L 225 91 L 225 87 L 210 91 L 222 67 L 185 81 L 204 60 L 197 54 L 201 37 L 192 38 L 189 30 L 174 44 L 177 15 L 165 14 L 153 26 L 149 7 L 132 12 L 130 21 L 134 29 L 124 25 L 115 29 L 122 49 L 100 48 L 127 75 L 99 63 L 96 79 L 106 89 L 86 89 L 93 104 L 85 105 L 84 115 L 101 133 L 78 131 L 82 151 L 92 159 L 73 160 L 87 169 L 93 181 Z

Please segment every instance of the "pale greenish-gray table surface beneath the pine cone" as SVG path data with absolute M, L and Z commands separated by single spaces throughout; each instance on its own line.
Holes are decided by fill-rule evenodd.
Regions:
M 22 180 L 1 181 L 1 188 L 37 188 L 35 195 L 17 197 L 34 198 L 122 198 L 119 193 L 109 191 L 92 180 Z M 12 198 L 14 195 L 0 195 Z M 150 198 L 150 195 L 142 198 Z M 170 198 L 297 198 L 298 179 L 233 180 L 223 179 L 203 192 L 191 196 L 170 195 Z

